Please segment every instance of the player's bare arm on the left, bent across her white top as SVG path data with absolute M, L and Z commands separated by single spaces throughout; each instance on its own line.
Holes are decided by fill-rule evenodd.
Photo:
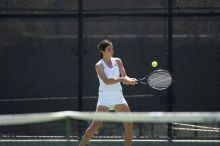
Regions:
M 96 63 L 95 70 L 97 75 L 102 79 L 102 81 L 106 85 L 116 84 L 119 82 L 126 82 L 126 79 L 124 77 L 108 78 L 104 72 L 104 66 L 101 63 Z

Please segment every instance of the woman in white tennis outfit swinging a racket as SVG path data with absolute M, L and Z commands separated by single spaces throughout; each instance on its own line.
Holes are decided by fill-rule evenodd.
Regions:
M 120 82 L 127 85 L 137 84 L 135 78 L 126 75 L 123 63 L 120 58 L 113 57 L 113 45 L 109 40 L 102 40 L 98 44 L 101 60 L 96 63 L 95 69 L 99 79 L 99 97 L 96 112 L 130 112 L 129 106 L 123 96 Z M 102 125 L 102 121 L 93 121 L 86 130 L 79 146 L 85 146 L 94 133 Z M 133 124 L 123 123 L 125 128 L 125 146 L 131 146 L 133 137 Z

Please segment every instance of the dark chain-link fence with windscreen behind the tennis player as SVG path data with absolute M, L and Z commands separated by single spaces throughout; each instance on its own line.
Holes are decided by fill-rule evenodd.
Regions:
M 0 34 L 1 114 L 94 111 L 96 47 L 104 38 L 129 76 L 151 72 L 152 60 L 173 74 L 169 91 L 123 86 L 132 111 L 220 110 L 218 0 L 1 0 Z M 89 124 L 73 124 L 74 136 Z M 36 135 L 63 135 L 54 128 L 59 122 L 45 125 L 34 128 L 41 129 Z M 19 135 L 36 126 L 28 127 L 1 127 L 1 137 L 14 137 L 11 128 Z M 166 127 L 135 124 L 134 137 L 165 138 Z M 122 125 L 108 123 L 95 137 L 122 133 Z

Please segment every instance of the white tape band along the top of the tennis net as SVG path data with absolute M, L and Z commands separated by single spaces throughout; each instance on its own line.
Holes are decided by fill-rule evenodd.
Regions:
M 51 122 L 62 119 L 99 120 L 109 122 L 149 122 L 149 123 L 211 123 L 220 121 L 220 112 L 75 112 L 1 115 L 0 125 L 20 125 Z

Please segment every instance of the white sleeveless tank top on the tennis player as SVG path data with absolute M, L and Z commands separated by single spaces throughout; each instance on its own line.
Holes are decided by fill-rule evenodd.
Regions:
M 118 78 L 120 76 L 119 67 L 117 62 L 115 61 L 115 58 L 111 57 L 111 62 L 113 66 L 112 68 L 107 66 L 107 64 L 103 61 L 103 59 L 101 59 L 99 62 L 104 66 L 104 73 L 107 76 L 107 78 Z M 99 78 L 99 93 L 122 91 L 120 82 L 116 84 L 106 85 L 99 76 L 98 78 Z

